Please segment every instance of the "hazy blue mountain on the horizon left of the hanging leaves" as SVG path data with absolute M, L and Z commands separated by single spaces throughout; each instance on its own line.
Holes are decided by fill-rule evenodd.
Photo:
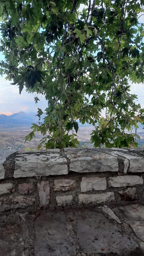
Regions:
M 1 114 L 0 125 L 31 125 L 32 123 L 38 122 L 38 116 L 35 113 L 26 114 L 25 112 L 14 113 L 10 116 Z

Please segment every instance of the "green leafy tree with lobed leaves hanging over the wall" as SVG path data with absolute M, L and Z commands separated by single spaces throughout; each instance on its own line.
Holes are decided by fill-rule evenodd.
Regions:
M 144 109 L 129 83 L 144 81 L 143 7 L 144 0 L 0 1 L 1 74 L 19 93 L 26 86 L 48 102 L 26 139 L 39 131 L 46 148 L 76 146 L 79 119 L 94 126 L 96 147 L 137 146 L 131 130 L 144 123 Z

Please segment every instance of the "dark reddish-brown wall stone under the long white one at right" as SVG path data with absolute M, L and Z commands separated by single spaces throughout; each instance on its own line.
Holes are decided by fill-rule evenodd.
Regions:
M 132 201 L 137 199 L 137 191 L 135 187 L 120 190 L 118 193 L 123 201 Z

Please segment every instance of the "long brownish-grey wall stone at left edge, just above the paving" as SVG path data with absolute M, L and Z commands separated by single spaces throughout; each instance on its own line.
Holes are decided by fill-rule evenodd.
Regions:
M 35 203 L 35 198 L 26 196 L 17 196 L 0 198 L 0 211 L 7 211 L 10 209 L 27 208 Z

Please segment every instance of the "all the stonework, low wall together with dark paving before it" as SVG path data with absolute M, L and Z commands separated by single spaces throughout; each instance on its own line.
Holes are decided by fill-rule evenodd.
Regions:
M 144 255 L 144 149 L 0 151 L 0 255 Z

